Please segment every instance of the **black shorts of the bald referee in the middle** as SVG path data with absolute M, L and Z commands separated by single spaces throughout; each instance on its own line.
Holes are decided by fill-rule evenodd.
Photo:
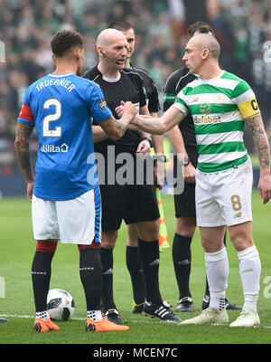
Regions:
M 118 230 L 126 224 L 153 221 L 160 217 L 154 186 L 101 185 L 102 231 Z

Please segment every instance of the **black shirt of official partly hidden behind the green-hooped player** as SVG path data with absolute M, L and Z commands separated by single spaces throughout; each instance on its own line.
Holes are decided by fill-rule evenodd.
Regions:
M 174 71 L 164 86 L 164 108 L 168 110 L 174 103 L 174 100 L 188 83 L 194 81 L 196 76 L 191 74 L 187 67 L 182 67 L 178 71 Z M 188 113 L 185 119 L 179 123 L 179 129 L 182 132 L 184 146 L 188 152 L 197 153 L 197 142 L 195 137 L 195 128 L 192 115 Z

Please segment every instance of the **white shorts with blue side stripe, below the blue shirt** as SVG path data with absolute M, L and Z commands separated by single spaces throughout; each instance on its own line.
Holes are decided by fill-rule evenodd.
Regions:
M 66 201 L 32 200 L 34 240 L 100 243 L 101 205 L 98 187 Z

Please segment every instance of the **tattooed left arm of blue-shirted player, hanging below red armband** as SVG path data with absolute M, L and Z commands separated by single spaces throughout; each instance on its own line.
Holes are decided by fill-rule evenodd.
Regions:
M 32 132 L 33 127 L 17 122 L 14 146 L 26 183 L 33 182 L 34 180 L 29 152 L 29 138 Z

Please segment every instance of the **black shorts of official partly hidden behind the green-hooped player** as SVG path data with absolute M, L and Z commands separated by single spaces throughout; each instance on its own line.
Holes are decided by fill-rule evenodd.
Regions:
M 189 154 L 192 160 L 192 165 L 197 167 L 198 155 Z M 176 157 L 174 157 L 174 176 L 176 173 Z M 196 218 L 196 204 L 195 204 L 195 184 L 188 184 L 184 182 L 183 192 L 179 195 L 174 195 L 175 217 L 194 217 Z

